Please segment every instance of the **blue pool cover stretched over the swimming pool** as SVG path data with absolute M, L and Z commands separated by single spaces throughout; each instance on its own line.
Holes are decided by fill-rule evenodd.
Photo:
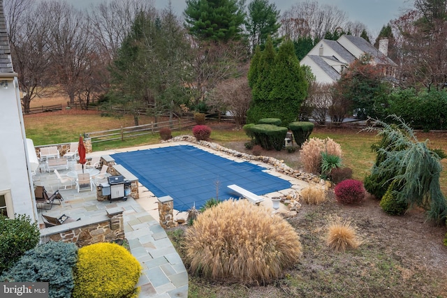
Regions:
M 237 163 L 190 145 L 113 154 L 117 164 L 138 177 L 156 197 L 170 195 L 174 209 L 199 209 L 210 198 L 237 198 L 226 186 L 238 186 L 264 195 L 290 188 L 290 182 L 263 172 L 264 167 Z

